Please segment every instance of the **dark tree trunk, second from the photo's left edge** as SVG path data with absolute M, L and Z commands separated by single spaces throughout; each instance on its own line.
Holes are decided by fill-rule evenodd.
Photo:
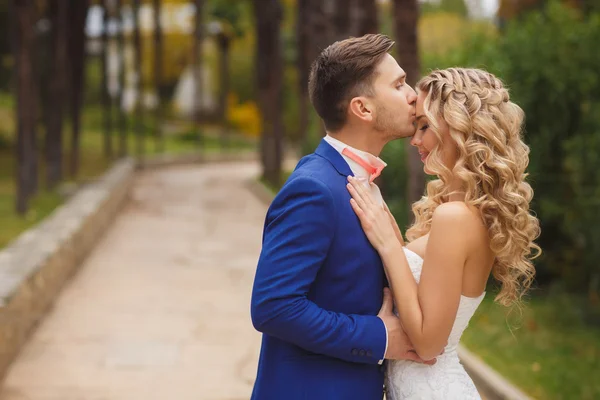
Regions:
M 62 179 L 63 115 L 67 101 L 68 0 L 50 1 L 52 66 L 46 103 L 46 185 L 54 188 Z

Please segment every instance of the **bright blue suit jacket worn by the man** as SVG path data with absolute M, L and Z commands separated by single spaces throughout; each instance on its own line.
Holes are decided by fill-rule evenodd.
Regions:
M 386 280 L 350 206 L 351 174 L 323 140 L 267 212 L 252 292 L 263 332 L 252 399 L 382 398 Z

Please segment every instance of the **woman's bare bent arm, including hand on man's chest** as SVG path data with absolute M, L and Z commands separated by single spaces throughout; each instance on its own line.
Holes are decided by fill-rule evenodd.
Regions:
M 385 210 L 362 186 L 350 185 L 348 190 L 367 237 L 381 255 L 408 337 L 421 358 L 438 356 L 447 343 L 460 302 L 470 230 L 468 209 L 460 203 L 437 207 L 417 285 Z

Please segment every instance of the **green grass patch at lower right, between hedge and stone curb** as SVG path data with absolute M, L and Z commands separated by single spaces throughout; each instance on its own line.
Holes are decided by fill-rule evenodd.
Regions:
M 577 301 L 537 295 L 507 317 L 488 293 L 462 342 L 533 398 L 599 399 L 600 327 L 583 321 Z

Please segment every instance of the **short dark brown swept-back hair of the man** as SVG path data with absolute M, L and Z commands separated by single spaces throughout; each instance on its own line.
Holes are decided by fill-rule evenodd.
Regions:
M 374 95 L 375 68 L 393 45 L 385 35 L 368 34 L 335 42 L 319 54 L 310 70 L 308 93 L 325 129 L 335 132 L 344 126 L 352 98 Z

